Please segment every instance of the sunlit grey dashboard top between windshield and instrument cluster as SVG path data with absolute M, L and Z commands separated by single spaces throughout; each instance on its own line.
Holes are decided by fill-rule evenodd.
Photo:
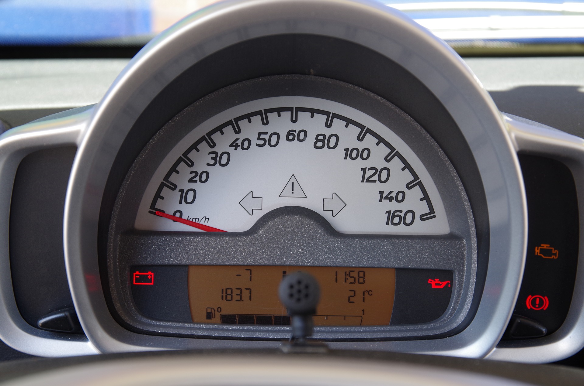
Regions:
M 463 59 L 499 110 L 584 135 L 580 108 L 584 104 L 584 58 Z M 16 127 L 57 111 L 98 103 L 128 61 L 1 59 L 0 120 L 8 128 Z

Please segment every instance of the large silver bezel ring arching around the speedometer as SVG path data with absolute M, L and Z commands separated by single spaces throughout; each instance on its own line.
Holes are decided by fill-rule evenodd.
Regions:
M 65 260 L 79 320 L 101 352 L 164 348 L 270 347 L 278 342 L 141 335 L 110 314 L 99 280 L 100 203 L 114 157 L 138 115 L 185 69 L 251 38 L 306 33 L 352 41 L 403 66 L 439 99 L 470 145 L 484 183 L 490 223 L 488 273 L 477 313 L 448 338 L 334 342 L 332 348 L 487 355 L 509 321 L 524 265 L 526 199 L 515 149 L 502 116 L 470 69 L 443 41 L 397 10 L 346 0 L 244 0 L 217 3 L 154 38 L 96 106 L 79 146 L 65 205 Z

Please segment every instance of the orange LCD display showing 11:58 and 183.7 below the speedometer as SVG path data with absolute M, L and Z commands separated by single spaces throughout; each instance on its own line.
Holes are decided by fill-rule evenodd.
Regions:
M 191 265 L 193 322 L 290 324 L 278 286 L 291 272 L 311 273 L 321 287 L 315 325 L 388 325 L 395 295 L 394 268 Z

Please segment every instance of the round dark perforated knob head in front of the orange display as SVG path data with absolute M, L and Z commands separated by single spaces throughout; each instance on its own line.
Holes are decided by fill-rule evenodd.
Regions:
M 307 272 L 294 272 L 280 283 L 278 295 L 288 314 L 314 314 L 321 296 L 317 279 Z

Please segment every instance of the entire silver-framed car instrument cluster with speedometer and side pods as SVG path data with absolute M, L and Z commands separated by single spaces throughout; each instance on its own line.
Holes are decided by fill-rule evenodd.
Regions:
M 273 348 L 290 338 L 279 285 L 301 271 L 331 348 L 561 359 L 584 346 L 583 143 L 502 115 L 387 6 L 218 3 L 96 106 L 0 136 L 0 337 L 46 356 Z M 35 162 L 64 174 L 32 205 Z M 31 276 L 19 245 L 43 228 L 18 219 L 42 210 L 64 246 Z M 47 272 L 69 303 L 24 300 Z

